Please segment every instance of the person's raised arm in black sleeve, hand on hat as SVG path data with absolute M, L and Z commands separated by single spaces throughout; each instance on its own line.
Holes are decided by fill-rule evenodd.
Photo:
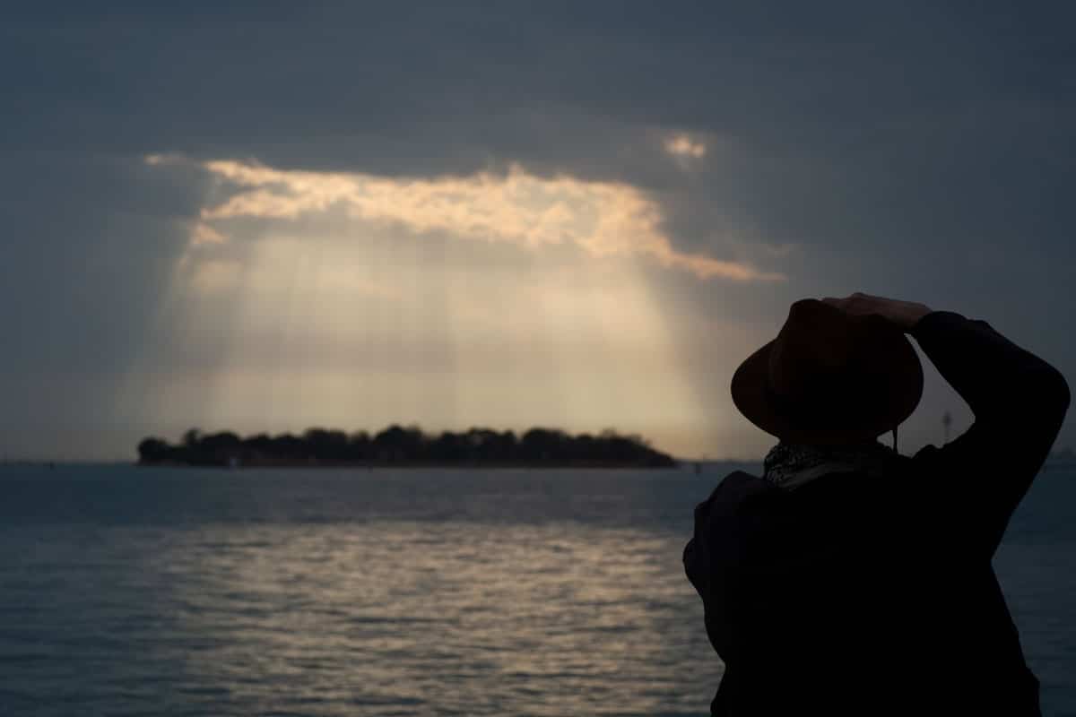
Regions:
M 901 326 L 972 408 L 972 427 L 920 450 L 912 470 L 931 482 L 924 499 L 945 500 L 955 528 L 992 554 L 1061 429 L 1071 398 L 1064 377 L 986 321 L 866 295 L 829 301 Z

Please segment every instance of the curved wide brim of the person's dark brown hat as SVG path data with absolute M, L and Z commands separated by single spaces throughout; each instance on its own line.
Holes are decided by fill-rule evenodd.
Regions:
M 916 349 L 904 339 L 907 350 L 902 352 L 900 369 L 892 373 L 889 390 L 886 391 L 887 398 L 875 406 L 877 411 L 873 415 L 856 416 L 855 422 L 848 426 L 804 426 L 783 415 L 773 404 L 770 393 L 766 390 L 769 381 L 769 354 L 776 340 L 770 341 L 751 354 L 736 369 L 732 395 L 733 403 L 745 418 L 781 441 L 832 445 L 876 439 L 893 430 L 919 405 L 923 392 L 923 369 Z

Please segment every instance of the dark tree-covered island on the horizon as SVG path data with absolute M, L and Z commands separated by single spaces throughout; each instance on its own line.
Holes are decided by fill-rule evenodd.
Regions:
M 190 429 L 174 445 L 147 438 L 139 443 L 138 453 L 144 465 L 676 465 L 638 435 L 613 430 L 571 435 L 547 428 L 532 428 L 522 435 L 489 428 L 431 435 L 414 426 L 394 425 L 374 434 L 311 428 L 301 435 L 259 433 L 245 439 L 231 431 Z

